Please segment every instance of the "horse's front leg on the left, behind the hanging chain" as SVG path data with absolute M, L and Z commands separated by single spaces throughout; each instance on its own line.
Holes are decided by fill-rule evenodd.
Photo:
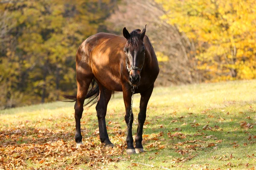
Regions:
M 130 117 L 130 111 L 131 111 L 131 88 L 123 88 L 123 98 L 124 98 L 124 102 L 125 102 L 125 122 L 126 125 L 128 127 L 128 123 L 129 123 L 129 117 Z M 129 125 L 129 129 L 128 129 L 128 134 L 127 134 L 127 139 L 126 139 L 126 143 L 127 143 L 127 149 L 126 149 L 126 153 L 127 154 L 133 154 L 136 153 L 135 152 L 135 148 L 133 146 L 133 137 L 132 137 L 132 123 L 134 120 L 134 116 L 133 113 L 131 113 L 131 121 L 130 121 L 130 125 Z

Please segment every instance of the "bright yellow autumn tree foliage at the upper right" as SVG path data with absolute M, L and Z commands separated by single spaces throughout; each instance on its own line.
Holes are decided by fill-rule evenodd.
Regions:
M 198 68 L 211 81 L 256 78 L 255 0 L 156 0 L 197 45 Z

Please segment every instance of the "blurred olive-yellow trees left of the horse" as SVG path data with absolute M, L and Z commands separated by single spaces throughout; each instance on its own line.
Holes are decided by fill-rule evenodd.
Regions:
M 6 1 L 7 2 L 7 1 Z M 76 92 L 75 54 L 104 28 L 116 0 L 23 0 L 0 4 L 0 107 Z

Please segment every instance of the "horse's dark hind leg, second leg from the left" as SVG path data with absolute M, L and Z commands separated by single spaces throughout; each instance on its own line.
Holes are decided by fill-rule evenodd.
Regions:
M 102 143 L 105 143 L 108 147 L 113 147 L 114 145 L 110 142 L 108 138 L 108 132 L 106 128 L 106 113 L 108 102 L 111 98 L 112 91 L 106 89 L 101 84 L 99 85 L 99 101 L 96 105 L 97 117 L 99 122 L 99 138 Z

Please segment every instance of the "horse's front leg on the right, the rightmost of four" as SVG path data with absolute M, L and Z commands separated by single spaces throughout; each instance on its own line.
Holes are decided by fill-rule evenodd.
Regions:
M 140 97 L 140 113 L 138 114 L 138 128 L 137 128 L 137 136 L 135 137 L 135 151 L 136 153 L 143 152 L 143 146 L 142 146 L 142 132 L 143 132 L 143 125 L 146 119 L 146 111 L 147 111 L 147 105 L 148 100 L 152 94 L 154 88 L 154 84 L 151 85 L 151 87 L 147 90 L 141 93 Z

